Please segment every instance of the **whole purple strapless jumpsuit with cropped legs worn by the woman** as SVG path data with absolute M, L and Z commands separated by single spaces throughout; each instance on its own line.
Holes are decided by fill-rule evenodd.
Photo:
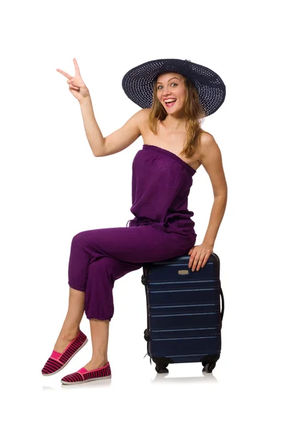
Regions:
M 143 144 L 133 159 L 132 207 L 125 227 L 85 230 L 71 242 L 68 285 L 86 292 L 88 319 L 111 320 L 115 280 L 143 263 L 187 254 L 195 245 L 187 198 L 196 173 L 164 148 Z

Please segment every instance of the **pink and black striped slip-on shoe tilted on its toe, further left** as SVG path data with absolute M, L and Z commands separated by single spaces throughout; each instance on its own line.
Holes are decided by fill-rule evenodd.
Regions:
M 79 331 L 78 335 L 74 340 L 63 350 L 63 352 L 56 352 L 53 350 L 51 356 L 46 361 L 41 373 L 43 376 L 50 376 L 50 374 L 55 374 L 60 372 L 60 370 L 65 367 L 69 361 L 73 358 L 76 353 L 81 350 L 81 348 L 86 345 L 88 339 L 86 335 Z

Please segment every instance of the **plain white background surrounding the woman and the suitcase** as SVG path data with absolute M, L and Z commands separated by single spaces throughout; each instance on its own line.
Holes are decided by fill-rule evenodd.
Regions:
M 282 22 L 279 1 L 14 1 L 1 6 L 1 389 L 5 427 L 279 427 L 282 394 Z M 222 354 L 155 372 L 146 353 L 142 270 L 114 285 L 113 377 L 73 387 L 91 341 L 53 377 L 41 368 L 68 306 L 73 235 L 125 226 L 138 138 L 95 158 L 66 78 L 73 58 L 103 136 L 140 108 L 124 74 L 155 58 L 212 68 L 225 82 L 202 128 L 222 152 L 228 201 L 214 252 L 225 294 Z M 188 208 L 202 242 L 213 203 L 203 167 Z M 81 329 L 90 338 L 89 322 Z M 106 383 L 108 382 L 108 383 Z M 277 389 L 279 387 L 279 389 Z M 52 425 L 51 425 L 52 424 Z M 102 425 L 103 424 L 103 425 Z

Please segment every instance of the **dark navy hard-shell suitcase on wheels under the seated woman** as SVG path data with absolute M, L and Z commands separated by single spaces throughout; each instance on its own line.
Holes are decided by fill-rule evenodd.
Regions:
M 168 365 L 202 362 L 211 373 L 221 352 L 224 296 L 220 259 L 215 253 L 200 270 L 192 272 L 190 255 L 143 263 L 148 327 L 144 338 L 158 373 Z M 221 296 L 221 311 L 220 311 Z

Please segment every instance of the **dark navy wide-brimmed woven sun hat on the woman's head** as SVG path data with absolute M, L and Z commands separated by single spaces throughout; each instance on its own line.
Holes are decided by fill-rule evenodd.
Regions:
M 155 59 L 131 68 L 122 80 L 123 90 L 141 108 L 151 108 L 153 86 L 162 73 L 180 73 L 187 77 L 197 89 L 205 116 L 220 108 L 225 100 L 226 87 L 222 78 L 210 68 L 187 59 Z

